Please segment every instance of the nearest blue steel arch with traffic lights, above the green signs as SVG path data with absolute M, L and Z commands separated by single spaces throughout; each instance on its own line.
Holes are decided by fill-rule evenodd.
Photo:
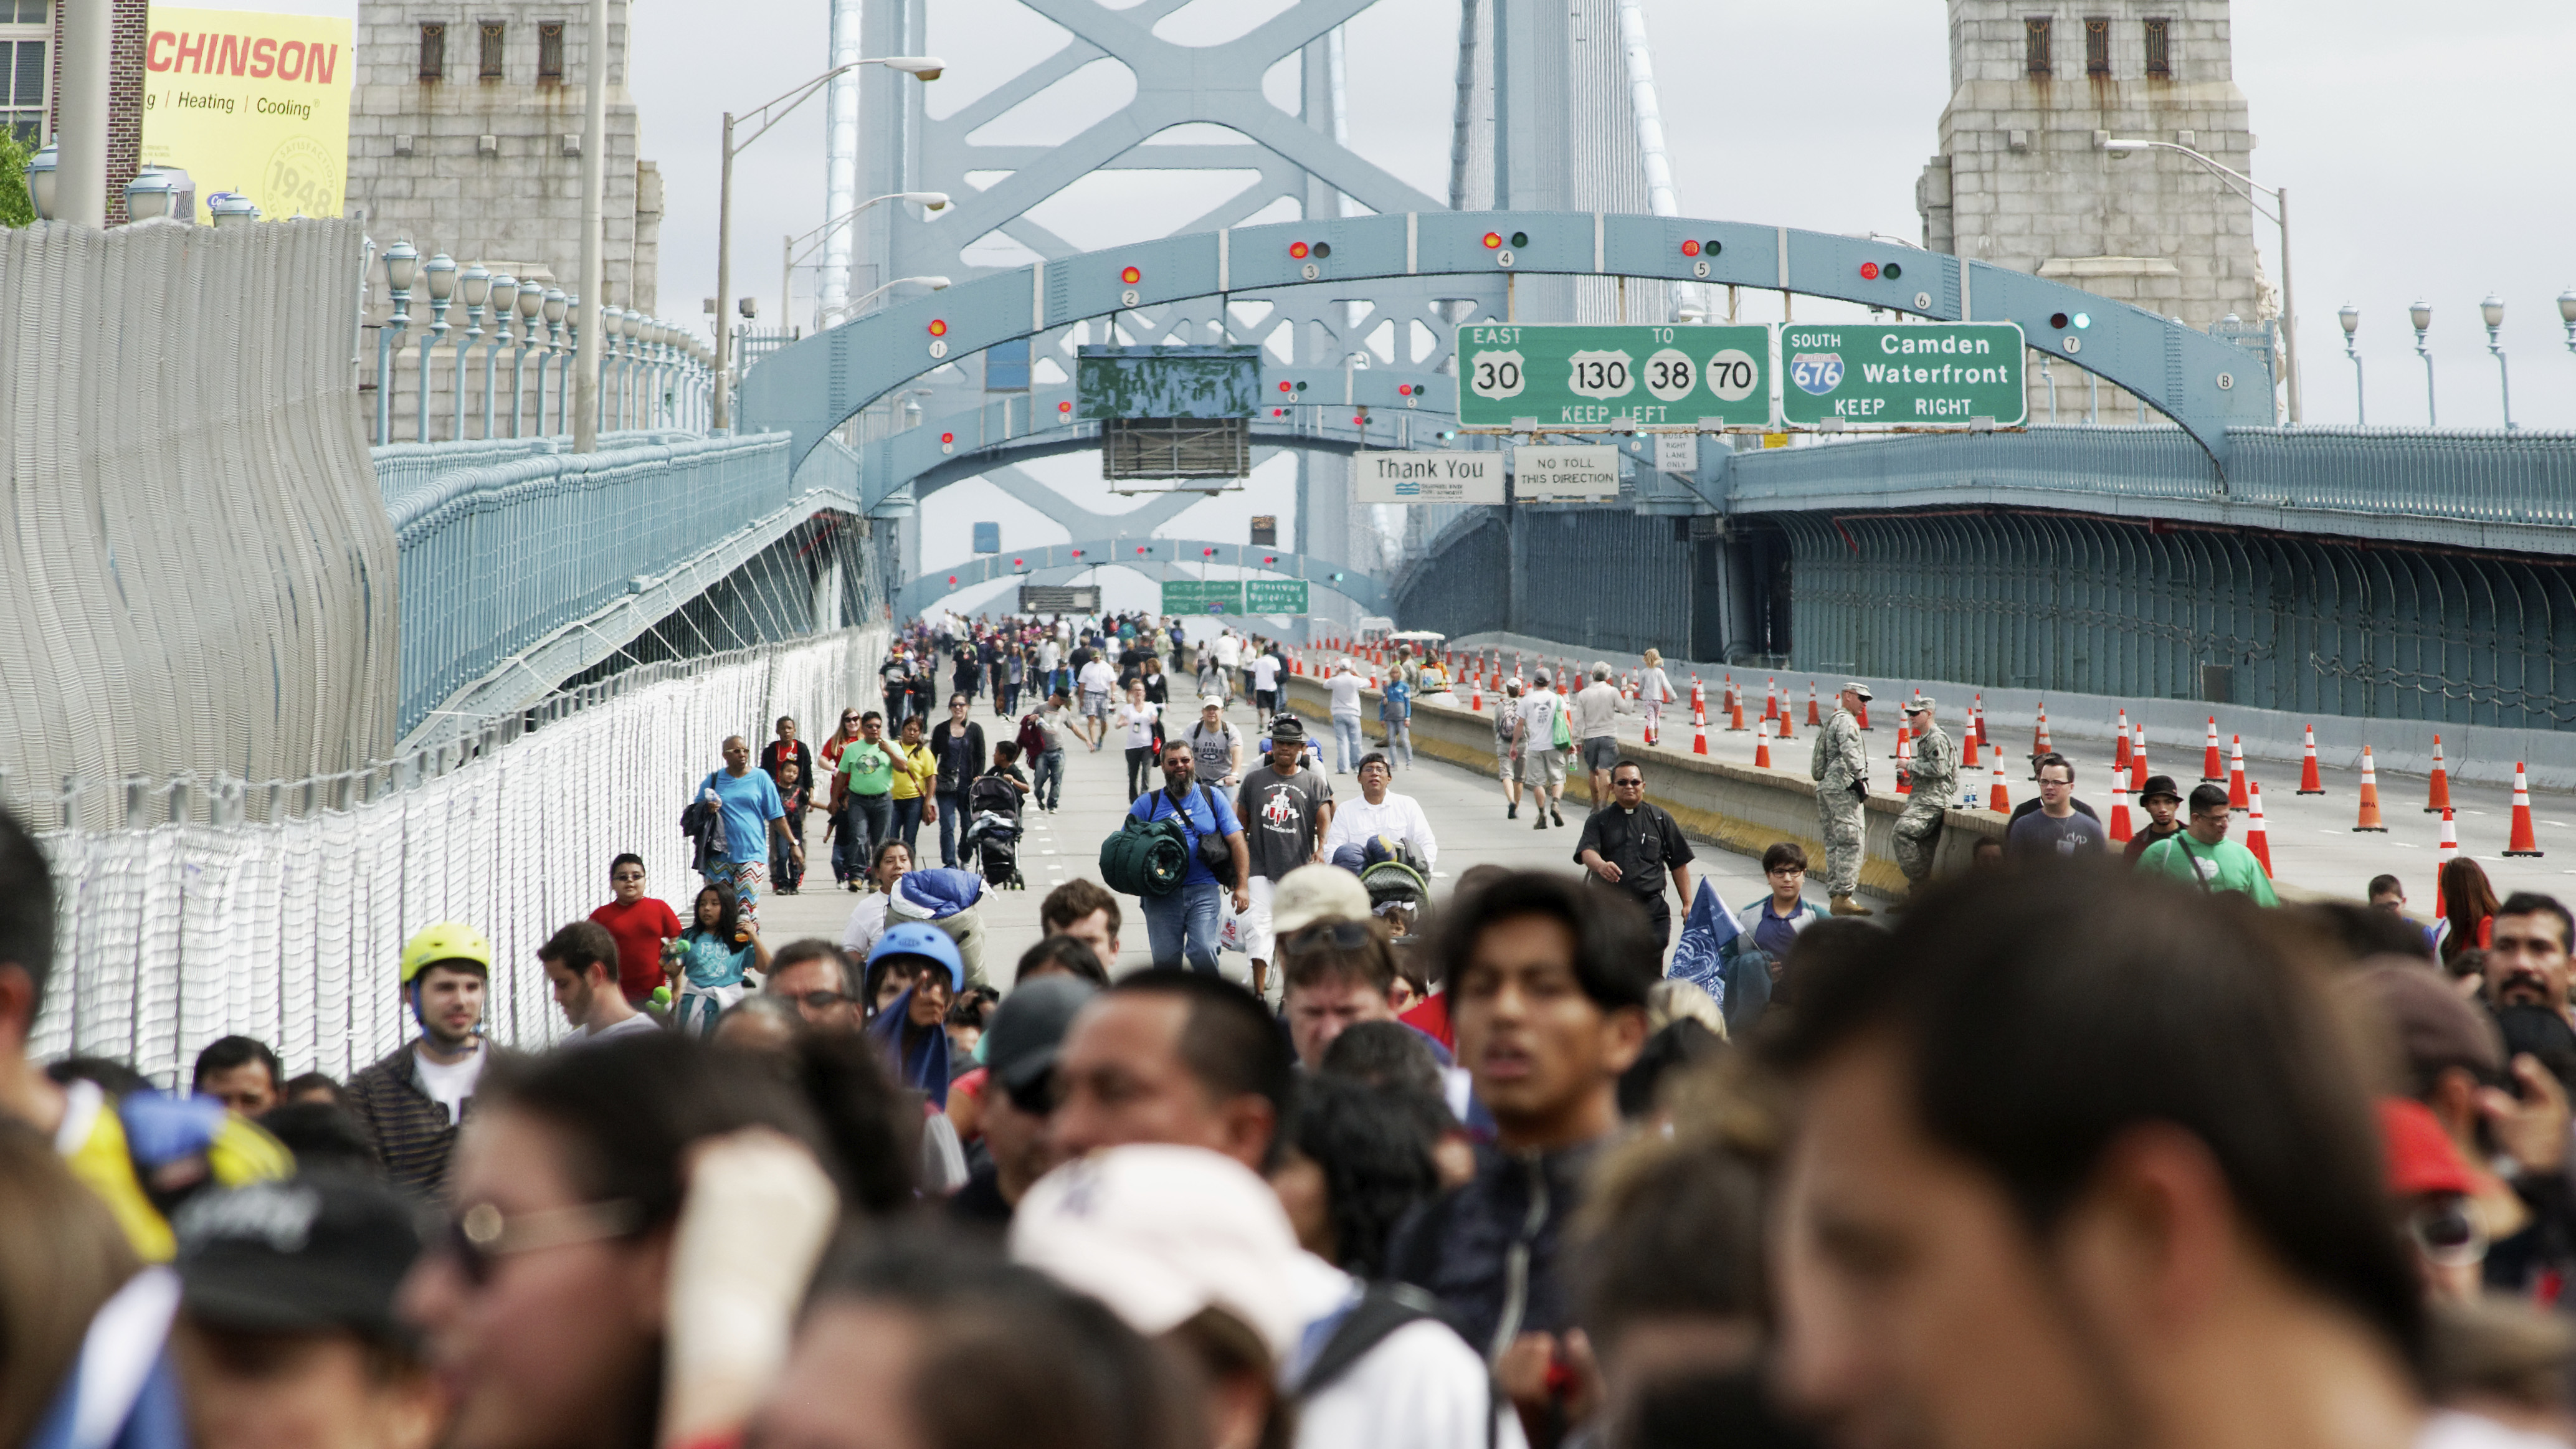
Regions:
M 1502 239 L 1486 247 L 1486 237 Z M 1522 245 L 1512 245 L 1525 237 Z M 1291 257 L 1306 242 L 1306 257 Z M 1314 260 L 1314 242 L 1329 242 Z M 1718 255 L 1682 255 L 1682 242 L 1718 242 Z M 1901 263 L 1904 275 L 1862 265 Z M 1136 281 L 1126 273 L 1133 268 Z M 907 381 L 963 358 L 1131 306 L 1347 286 L 1406 275 L 1628 275 L 1705 281 L 1832 296 L 1942 322 L 2017 322 L 2032 345 L 2099 373 L 2179 422 L 2226 468 L 2228 425 L 2269 425 L 2272 391 L 2259 363 L 2138 306 L 1963 257 L 1744 221 L 1610 216 L 1597 211 L 1417 211 L 1280 221 L 1164 237 L 992 273 L 943 293 L 899 301 L 793 342 L 742 378 L 742 427 L 786 430 L 793 461 L 858 409 Z M 2084 311 L 2092 327 L 2058 332 L 2053 314 Z M 2069 353 L 2069 345 L 2081 350 Z

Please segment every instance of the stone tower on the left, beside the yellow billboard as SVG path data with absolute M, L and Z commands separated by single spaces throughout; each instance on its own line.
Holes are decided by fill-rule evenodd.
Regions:
M 662 172 L 639 160 L 626 93 L 626 15 L 608 10 L 603 306 L 654 311 Z M 348 206 L 379 247 L 580 291 L 587 21 L 562 0 L 366 0 L 358 5 Z M 389 311 L 384 270 L 368 319 Z M 420 314 L 415 304 L 415 317 Z M 461 324 L 461 309 L 451 314 Z

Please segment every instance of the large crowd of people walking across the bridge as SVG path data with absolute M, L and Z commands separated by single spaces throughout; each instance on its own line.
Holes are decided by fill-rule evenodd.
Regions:
M 1182 654 L 1113 620 L 1007 667 L 1048 641 L 904 654 L 1046 700 L 1061 788 L 1100 715 L 1054 672 Z M 1038 754 L 1007 785 L 1056 803 L 1046 749 L 987 746 L 963 685 L 904 744 L 907 674 L 811 752 L 726 741 L 685 911 L 611 862 L 536 950 L 551 1050 L 484 1032 L 500 960 L 448 921 L 386 963 L 410 1040 L 345 1084 L 250 1037 L 185 1091 L 31 1060 L 77 921 L 0 816 L 0 1449 L 2576 1444 L 2555 898 L 2463 860 L 2429 927 L 2393 878 L 2277 906 L 2200 800 L 2130 865 L 2043 790 L 2045 842 L 1891 916 L 1806 901 L 1780 842 L 1713 924 L 1589 685 L 1497 713 L 1510 808 L 1561 824 L 1595 772 L 1571 867 L 1435 893 L 1401 749 L 1337 749 L 1334 803 L 1298 715 L 1226 726 L 1267 654 L 1213 687 L 1188 654 L 1213 721 L 1128 803 L 1188 852 L 1136 896 L 1151 965 L 1113 970 L 1131 901 L 1087 878 L 987 963 L 956 852 L 997 767 Z M 858 834 L 858 901 L 773 947 L 801 800 Z

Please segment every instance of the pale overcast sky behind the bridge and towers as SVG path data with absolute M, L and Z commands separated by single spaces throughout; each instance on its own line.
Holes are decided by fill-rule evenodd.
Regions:
M 1285 3 L 1195 0 L 1167 26 L 1221 36 Z M 355 10 L 353 0 L 240 8 Z M 951 64 L 933 88 L 935 113 L 956 111 L 1061 36 L 1015 0 L 933 0 L 930 10 L 927 44 Z M 1947 100 L 1945 5 L 1646 0 L 1646 10 L 1685 214 L 1919 234 L 1914 178 Z M 2496 427 L 2496 363 L 2478 324 L 2478 301 L 2496 293 L 2506 301 L 2517 422 L 2576 427 L 2576 353 L 2555 304 L 2576 286 L 2576 5 L 2470 0 L 2427 23 L 2416 0 L 2239 0 L 2233 15 L 2236 82 L 2259 136 L 2254 175 L 2293 196 L 2308 422 L 2354 417 L 2352 363 L 2334 319 L 2344 301 L 2362 311 L 2370 422 L 2424 422 L 2424 365 L 2406 327 L 2406 304 L 2424 299 L 2434 306 L 2442 422 Z M 1455 23 L 1455 0 L 1378 0 L 1350 28 L 1352 144 L 1432 196 L 1448 190 Z M 701 322 L 698 299 L 716 291 L 721 111 L 757 106 L 819 69 L 824 39 L 822 0 L 732 0 L 716 13 L 639 5 L 631 80 L 644 154 L 667 183 L 662 311 L 672 319 Z M 1066 85 L 1054 111 L 1072 129 L 1113 106 L 1115 88 L 1115 77 Z M 1051 136 L 1036 124 L 994 139 Z M 747 152 L 734 185 L 734 286 L 775 317 L 778 239 L 822 221 L 822 106 Z M 1185 185 L 1100 178 L 1056 201 L 1046 221 L 1079 245 L 1115 245 L 1154 232 L 1162 216 L 1203 208 L 1206 180 Z M 2259 237 L 2277 278 L 2267 224 Z M 994 512 L 976 517 L 1015 507 L 999 494 L 979 502 Z M 1200 512 L 1193 525 L 1206 522 Z

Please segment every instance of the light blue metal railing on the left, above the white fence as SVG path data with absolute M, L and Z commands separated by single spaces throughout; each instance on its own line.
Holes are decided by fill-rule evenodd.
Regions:
M 451 468 L 389 453 L 379 479 L 402 548 L 404 734 L 528 643 L 791 502 L 786 435 L 515 458 L 469 445 Z

